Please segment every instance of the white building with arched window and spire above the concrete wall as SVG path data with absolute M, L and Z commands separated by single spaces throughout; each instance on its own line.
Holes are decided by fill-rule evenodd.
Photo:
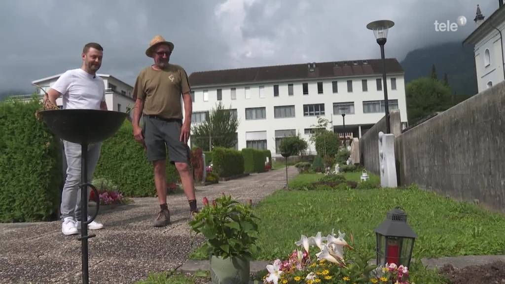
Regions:
M 479 92 L 503 81 L 503 36 L 505 36 L 505 8 L 503 1 L 498 2 L 498 9 L 486 20 L 477 5 L 475 24 L 477 28 L 463 41 L 474 44 L 475 71 Z

